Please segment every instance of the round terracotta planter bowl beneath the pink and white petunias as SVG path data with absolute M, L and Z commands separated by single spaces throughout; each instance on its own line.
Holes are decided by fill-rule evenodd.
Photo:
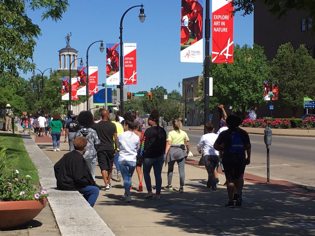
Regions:
M 46 207 L 46 203 L 46 198 L 0 202 L 0 229 L 9 229 L 29 222 Z

